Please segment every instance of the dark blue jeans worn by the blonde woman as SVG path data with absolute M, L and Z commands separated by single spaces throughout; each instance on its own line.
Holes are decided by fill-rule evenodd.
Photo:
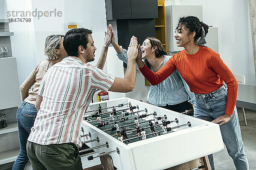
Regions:
M 35 105 L 23 101 L 17 111 L 17 125 L 20 138 L 20 153 L 12 166 L 12 170 L 23 170 L 26 163 L 29 161 L 26 144 L 29 137 L 30 129 L 34 125 L 37 114 Z

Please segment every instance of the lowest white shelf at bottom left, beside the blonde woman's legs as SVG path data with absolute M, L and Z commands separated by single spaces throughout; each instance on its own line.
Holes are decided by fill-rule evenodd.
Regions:
M 19 152 L 20 148 L 0 152 L 0 164 L 6 164 L 15 161 Z

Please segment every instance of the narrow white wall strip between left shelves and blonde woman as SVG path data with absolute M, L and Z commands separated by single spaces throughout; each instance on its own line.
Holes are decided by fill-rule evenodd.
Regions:
M 7 0 L 8 11 L 32 11 L 32 4 L 29 0 Z M 12 17 L 9 17 L 12 18 Z M 9 23 L 11 37 L 12 56 L 17 57 L 17 70 L 19 85 L 26 79 L 37 63 L 35 47 L 34 23 Z

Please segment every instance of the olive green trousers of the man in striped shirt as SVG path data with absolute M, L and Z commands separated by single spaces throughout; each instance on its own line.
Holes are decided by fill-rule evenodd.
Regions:
M 28 141 L 26 149 L 33 170 L 83 169 L 76 144 L 41 145 Z

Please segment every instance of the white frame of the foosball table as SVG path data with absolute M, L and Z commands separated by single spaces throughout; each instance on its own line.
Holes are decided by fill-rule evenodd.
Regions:
M 109 147 L 95 149 L 96 153 L 108 153 L 119 149 L 119 153 L 112 152 L 110 156 L 113 164 L 118 170 L 164 170 L 174 167 L 212 153 L 216 153 L 224 148 L 221 131 L 218 124 L 197 119 L 192 116 L 170 111 L 145 102 L 140 102 L 130 98 L 112 99 L 103 102 L 91 103 L 87 111 L 98 108 L 101 104 L 111 107 L 118 104 L 131 102 L 133 106 L 139 106 L 139 110 L 147 108 L 148 113 L 157 112 L 157 116 L 166 115 L 167 120 L 178 119 L 179 122 L 172 122 L 168 127 L 191 123 L 191 127 L 179 127 L 175 132 L 169 132 L 160 136 L 154 136 L 145 140 L 125 144 L 115 137 L 83 121 L 84 133 L 90 132 L 90 137 L 82 137 L 83 142 L 99 138 L 99 142 L 87 143 L 89 147 L 97 147 L 108 142 Z M 127 107 L 124 106 L 124 108 Z M 118 111 L 118 109 L 116 109 Z M 141 113 L 143 114 L 143 113 Z M 152 116 L 153 118 L 153 116 Z M 151 119 L 151 117 L 147 118 Z

